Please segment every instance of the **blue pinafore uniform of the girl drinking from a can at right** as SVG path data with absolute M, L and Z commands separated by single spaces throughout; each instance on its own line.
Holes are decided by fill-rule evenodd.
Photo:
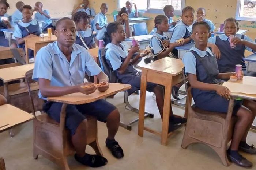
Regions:
M 237 34 L 237 37 L 246 41 L 253 42 L 251 38 L 246 35 Z M 244 46 L 244 44 L 237 44 L 235 48 L 230 47 L 229 38 L 225 35 L 219 35 L 208 39 L 209 43 L 215 44 L 221 51 L 221 59 L 217 60 L 219 72 L 234 72 L 236 64 L 241 64 L 246 68 L 244 61 L 245 50 L 253 51 L 251 48 Z

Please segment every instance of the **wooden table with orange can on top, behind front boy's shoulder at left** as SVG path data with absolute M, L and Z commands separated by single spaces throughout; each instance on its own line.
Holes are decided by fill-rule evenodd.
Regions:
M 55 35 L 52 35 L 50 38 L 48 36 L 41 38 L 41 37 L 30 37 L 25 38 L 25 60 L 26 63 L 29 63 L 29 56 L 28 56 L 28 49 L 34 50 L 34 58 L 37 54 L 37 51 L 40 50 L 40 48 L 46 46 L 49 43 L 53 43 L 54 41 L 57 41 L 57 37 Z

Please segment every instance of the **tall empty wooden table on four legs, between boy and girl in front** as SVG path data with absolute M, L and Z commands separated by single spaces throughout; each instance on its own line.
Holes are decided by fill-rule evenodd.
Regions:
M 172 134 L 168 134 L 171 89 L 175 84 L 183 81 L 182 68 L 184 67 L 180 59 L 165 57 L 155 62 L 141 66 L 142 77 L 140 85 L 140 106 L 139 106 L 139 126 L 138 135 L 143 137 L 143 130 L 161 136 L 161 144 L 167 145 L 167 138 Z M 165 86 L 164 106 L 163 106 L 163 123 L 162 132 L 155 131 L 148 127 L 144 127 L 144 111 L 146 100 L 147 82 L 152 82 Z

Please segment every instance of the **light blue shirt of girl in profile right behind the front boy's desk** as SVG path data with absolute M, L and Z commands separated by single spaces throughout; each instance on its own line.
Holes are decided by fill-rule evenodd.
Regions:
M 109 60 L 113 70 L 117 70 L 121 67 L 122 58 L 126 58 L 128 56 L 128 50 L 123 44 L 119 44 L 120 46 L 117 46 L 112 43 L 108 43 L 106 45 L 106 59 Z

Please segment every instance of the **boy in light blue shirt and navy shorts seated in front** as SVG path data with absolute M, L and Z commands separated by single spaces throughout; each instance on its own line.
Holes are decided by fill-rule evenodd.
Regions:
M 74 21 L 65 17 L 57 21 L 55 36 L 57 41 L 42 47 L 37 52 L 33 79 L 39 83 L 39 98 L 46 100 L 47 97 L 63 96 L 71 93 L 81 92 L 92 94 L 98 89 L 101 92 L 108 90 L 108 76 L 90 56 L 89 52 L 75 43 L 76 26 Z M 95 75 L 101 83 L 96 87 L 94 83 L 84 83 L 84 75 Z M 81 85 L 89 85 L 82 88 Z M 62 103 L 46 102 L 43 110 L 56 122 L 60 122 L 60 111 Z M 85 153 L 87 121 L 84 114 L 94 116 L 101 122 L 106 122 L 108 137 L 106 146 L 114 157 L 122 158 L 123 150 L 115 140 L 120 114 L 115 106 L 104 99 L 95 102 L 68 105 L 65 118 L 66 128 L 70 130 L 72 144 L 75 147 L 76 161 L 90 166 L 104 166 L 108 162 L 106 158 L 99 155 Z

